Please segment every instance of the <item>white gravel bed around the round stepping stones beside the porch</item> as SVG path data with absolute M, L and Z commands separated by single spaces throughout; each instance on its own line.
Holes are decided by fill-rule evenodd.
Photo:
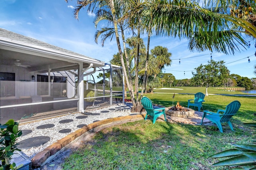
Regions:
M 122 107 L 121 109 L 115 109 L 115 110 L 109 110 L 109 109 L 114 109 L 115 107 Z M 40 145 L 38 147 L 32 147 L 30 149 L 22 149 L 22 152 L 24 152 L 29 158 L 31 159 L 34 157 L 38 152 L 44 150 L 46 147 L 50 146 L 54 142 L 62 139 L 66 135 L 69 135 L 70 133 L 80 129 L 77 127 L 77 125 L 80 124 L 90 124 L 93 123 L 93 121 L 96 120 L 104 120 L 112 117 L 118 117 L 118 116 L 126 116 L 130 115 L 130 105 L 126 106 L 123 104 L 119 105 L 114 105 L 114 106 L 109 106 L 109 107 L 104 107 L 101 109 L 95 109 L 88 111 L 89 113 L 100 113 L 101 111 L 108 110 L 108 113 L 100 113 L 100 115 L 87 115 L 88 117 L 85 119 L 77 119 L 76 117 L 82 116 L 84 114 L 82 113 L 73 113 L 69 115 L 64 115 L 60 117 L 54 117 L 54 118 L 49 118 L 46 120 L 41 120 L 41 121 L 36 121 L 36 122 L 31 122 L 31 123 L 26 123 L 26 124 L 21 124 L 19 125 L 20 130 L 32 130 L 32 133 L 29 133 L 28 135 L 24 135 L 18 138 L 17 142 L 22 141 L 24 139 L 28 139 L 30 137 L 37 137 L 37 136 L 48 136 L 50 137 L 50 141 L 45 143 L 44 145 Z M 59 123 L 60 120 L 64 119 L 73 119 L 74 121 L 70 123 Z M 36 127 L 40 125 L 45 125 L 45 124 L 54 124 L 54 127 L 48 128 L 48 129 L 36 129 Z M 61 129 L 71 129 L 70 133 L 59 133 Z

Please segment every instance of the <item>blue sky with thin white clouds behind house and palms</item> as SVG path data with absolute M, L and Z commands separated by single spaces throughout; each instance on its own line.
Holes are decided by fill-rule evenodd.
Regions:
M 76 20 L 73 15 L 75 2 L 76 0 L 68 3 L 65 0 L 0 0 L 0 27 L 109 63 L 118 52 L 115 39 L 107 39 L 104 47 L 100 45 L 100 41 L 96 44 L 94 14 L 87 14 L 83 9 L 80 11 L 79 20 Z M 146 36 L 144 42 L 147 42 Z M 248 50 L 236 52 L 234 55 L 213 52 L 212 59 L 230 63 L 226 64 L 230 74 L 255 78 L 253 72 L 256 49 L 254 42 L 250 43 L 251 47 Z M 172 73 L 176 79 L 191 78 L 191 70 L 200 64 L 207 64 L 211 56 L 210 51 L 190 52 L 186 39 L 152 37 L 150 48 L 157 45 L 167 47 L 172 53 L 172 64 L 165 67 L 163 72 Z M 246 57 L 249 57 L 250 63 Z

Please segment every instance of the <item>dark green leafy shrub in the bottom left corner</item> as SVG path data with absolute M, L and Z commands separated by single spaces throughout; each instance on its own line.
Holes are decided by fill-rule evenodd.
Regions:
M 22 131 L 18 130 L 18 122 L 14 122 L 13 119 L 8 120 L 4 125 L 0 124 L 0 170 L 15 170 L 19 167 L 16 167 L 16 164 L 13 162 L 10 163 L 12 155 L 15 150 L 20 150 L 17 148 L 18 143 L 16 140 L 22 135 Z

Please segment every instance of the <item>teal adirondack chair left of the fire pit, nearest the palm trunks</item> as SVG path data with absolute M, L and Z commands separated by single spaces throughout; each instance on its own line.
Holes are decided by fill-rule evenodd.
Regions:
M 151 117 L 153 117 L 153 124 L 155 124 L 156 119 L 160 115 L 164 115 L 164 120 L 166 121 L 165 107 L 153 108 L 152 101 L 146 96 L 141 99 L 141 104 L 147 112 L 145 120 L 147 119 L 148 115 L 150 115 Z

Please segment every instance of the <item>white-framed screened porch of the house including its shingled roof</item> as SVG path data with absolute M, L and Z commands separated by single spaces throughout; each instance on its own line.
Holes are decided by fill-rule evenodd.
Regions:
M 124 76 L 120 66 L 0 28 L 0 90 L 4 124 L 122 103 Z

